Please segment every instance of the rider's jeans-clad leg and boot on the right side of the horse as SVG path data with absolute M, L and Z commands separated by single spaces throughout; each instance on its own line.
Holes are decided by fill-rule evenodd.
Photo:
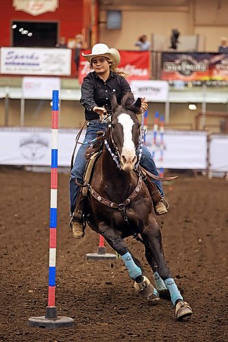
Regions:
M 140 159 L 140 165 L 148 170 L 149 172 L 155 174 L 155 176 L 159 176 L 159 173 L 157 171 L 157 168 L 155 166 L 155 162 L 153 161 L 153 158 L 151 156 L 151 153 L 149 152 L 148 148 L 146 146 L 142 146 L 142 157 Z M 157 181 L 156 179 L 151 179 L 153 183 L 157 186 L 157 189 L 159 189 L 162 197 L 164 197 L 164 192 L 162 189 L 162 183 L 160 181 Z M 150 191 L 150 189 L 149 189 Z M 151 196 L 152 197 L 152 196 Z M 157 215 L 162 215 L 163 213 L 167 213 L 167 207 L 164 205 L 162 200 L 159 202 L 154 203 L 155 212 Z

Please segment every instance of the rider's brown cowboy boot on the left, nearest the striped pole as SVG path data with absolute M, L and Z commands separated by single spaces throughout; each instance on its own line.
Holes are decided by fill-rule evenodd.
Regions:
M 83 207 L 84 207 L 84 196 L 81 192 L 78 195 L 75 211 L 70 221 L 70 227 L 72 229 L 73 237 L 76 239 L 82 239 L 85 235 L 85 224 L 83 220 Z

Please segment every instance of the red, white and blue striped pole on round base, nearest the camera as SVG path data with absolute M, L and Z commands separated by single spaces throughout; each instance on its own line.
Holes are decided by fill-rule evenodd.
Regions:
M 29 326 L 40 328 L 72 327 L 74 321 L 70 317 L 57 315 L 55 306 L 55 274 L 56 274 L 56 231 L 57 231 L 57 193 L 58 193 L 58 123 L 59 123 L 59 91 L 52 93 L 51 112 L 51 203 L 49 233 L 49 295 L 46 315 L 29 318 Z

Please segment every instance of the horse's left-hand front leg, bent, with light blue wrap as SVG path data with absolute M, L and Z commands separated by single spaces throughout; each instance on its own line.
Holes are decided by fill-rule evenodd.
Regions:
M 153 287 L 149 279 L 142 275 L 142 270 L 134 262 L 127 244 L 121 238 L 121 233 L 114 228 L 107 226 L 104 222 L 99 224 L 99 233 L 105 238 L 107 243 L 121 255 L 121 259 L 127 267 L 129 276 L 135 280 L 134 288 L 136 291 L 155 304 L 155 302 L 159 300 L 157 290 Z

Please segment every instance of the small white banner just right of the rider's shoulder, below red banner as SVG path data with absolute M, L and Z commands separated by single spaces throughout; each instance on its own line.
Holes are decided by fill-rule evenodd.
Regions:
M 135 98 L 145 97 L 147 101 L 166 102 L 168 100 L 167 81 L 131 81 L 131 91 Z

